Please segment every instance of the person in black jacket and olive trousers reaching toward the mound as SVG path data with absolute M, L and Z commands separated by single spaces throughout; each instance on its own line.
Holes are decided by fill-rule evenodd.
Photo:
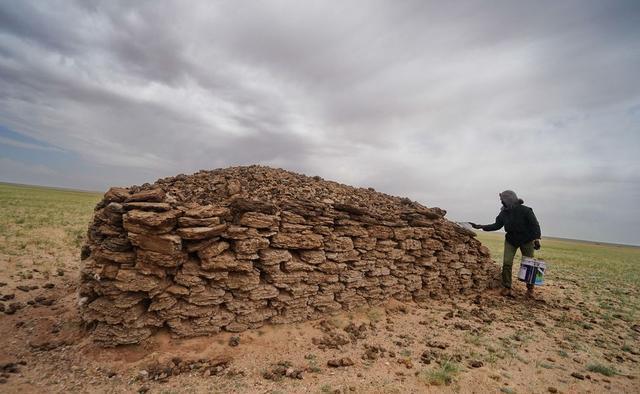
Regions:
M 502 295 L 512 296 L 511 271 L 513 258 L 518 249 L 523 256 L 533 257 L 533 250 L 540 249 L 540 224 L 533 209 L 524 205 L 512 190 L 500 193 L 502 208 L 493 224 L 479 225 L 470 223 L 475 229 L 496 231 L 504 227 L 507 232 L 504 241 L 504 257 L 502 262 Z M 527 295 L 533 297 L 533 285 L 527 284 Z

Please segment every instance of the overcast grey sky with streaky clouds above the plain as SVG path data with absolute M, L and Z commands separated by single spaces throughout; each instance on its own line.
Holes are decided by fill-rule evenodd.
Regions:
M 0 0 L 0 181 L 264 164 L 640 244 L 640 2 Z

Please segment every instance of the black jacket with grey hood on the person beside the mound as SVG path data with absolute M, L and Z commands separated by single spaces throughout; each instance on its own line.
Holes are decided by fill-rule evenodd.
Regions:
M 524 201 L 511 190 L 500 193 L 500 199 L 503 207 L 496 217 L 496 222 L 482 226 L 482 229 L 495 231 L 504 227 L 507 242 L 516 247 L 540 239 L 540 224 L 533 209 L 524 205 Z

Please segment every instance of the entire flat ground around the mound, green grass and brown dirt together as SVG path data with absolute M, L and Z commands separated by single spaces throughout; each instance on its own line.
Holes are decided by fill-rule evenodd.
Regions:
M 100 197 L 0 184 L 0 391 L 637 392 L 640 248 L 561 239 L 543 239 L 536 255 L 549 267 L 537 300 L 515 281 L 515 299 L 489 290 L 421 306 L 391 301 L 241 333 L 235 347 L 228 343 L 237 334 L 175 340 L 161 332 L 145 344 L 97 348 L 75 292 Z M 478 238 L 499 262 L 503 235 Z M 313 344 L 327 327 L 352 332 L 350 323 L 365 324 L 364 334 L 338 349 Z M 373 345 L 385 350 L 372 357 Z M 216 376 L 195 368 L 151 381 L 141 372 L 176 356 L 221 355 L 230 367 Z M 341 357 L 355 365 L 327 367 Z M 303 379 L 264 379 L 277 363 L 304 370 Z

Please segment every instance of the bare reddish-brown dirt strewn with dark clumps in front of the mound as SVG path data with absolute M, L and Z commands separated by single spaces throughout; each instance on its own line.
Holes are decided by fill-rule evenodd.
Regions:
M 490 291 L 422 306 L 392 301 L 237 336 L 159 333 L 103 349 L 80 327 L 74 272 L 0 281 L 3 297 L 14 295 L 5 307 L 25 305 L 0 318 L 4 392 L 638 391 L 637 341 L 633 353 L 611 346 L 633 330 L 630 322 L 603 329 L 586 320 L 591 306 L 571 282 L 548 283 L 544 301 L 526 300 L 519 286 L 515 299 Z M 609 360 L 616 374 L 585 369 L 593 360 Z

